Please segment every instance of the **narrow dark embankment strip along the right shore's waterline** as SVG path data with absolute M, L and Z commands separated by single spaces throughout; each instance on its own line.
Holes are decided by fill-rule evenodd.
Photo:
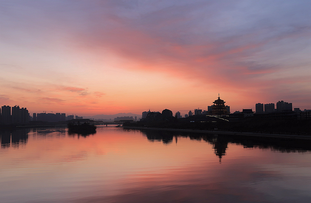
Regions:
M 286 135 L 286 134 L 267 134 L 267 133 L 249 133 L 249 132 L 228 132 L 228 131 L 210 131 L 210 130 L 191 130 L 191 129 L 171 129 L 171 128 L 143 128 L 143 127 L 123 127 L 130 129 L 142 130 L 166 130 L 166 131 L 182 131 L 182 132 L 197 132 L 197 133 L 212 133 L 212 134 L 229 134 L 237 136 L 253 136 L 253 137 L 269 137 L 269 138 L 285 138 L 285 139 L 302 139 L 311 140 L 309 135 Z

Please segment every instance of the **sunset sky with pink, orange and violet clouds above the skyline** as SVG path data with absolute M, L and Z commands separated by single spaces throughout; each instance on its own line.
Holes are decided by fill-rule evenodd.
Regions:
M 311 1 L 0 0 L 0 105 L 311 109 Z

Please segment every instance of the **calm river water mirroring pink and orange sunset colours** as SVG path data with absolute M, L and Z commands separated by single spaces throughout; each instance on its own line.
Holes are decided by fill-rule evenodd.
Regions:
M 114 127 L 0 133 L 0 202 L 311 201 L 306 141 Z

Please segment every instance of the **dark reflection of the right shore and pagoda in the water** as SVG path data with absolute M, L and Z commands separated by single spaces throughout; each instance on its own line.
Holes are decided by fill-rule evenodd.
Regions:
M 190 138 L 197 141 L 205 141 L 213 146 L 216 156 L 221 158 L 226 155 L 228 143 L 242 145 L 244 148 L 270 149 L 277 152 L 311 152 L 310 140 L 294 140 L 280 138 L 261 138 L 237 135 L 220 135 L 207 133 L 185 133 L 177 131 L 163 130 L 141 130 L 151 142 L 159 141 L 163 144 L 173 143 L 173 138 L 177 144 L 178 137 Z

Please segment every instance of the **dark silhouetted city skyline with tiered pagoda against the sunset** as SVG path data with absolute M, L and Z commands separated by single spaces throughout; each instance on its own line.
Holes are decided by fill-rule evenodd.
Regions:
M 288 102 L 284 102 L 283 100 L 278 101 L 276 104 L 274 103 L 270 103 L 270 104 L 261 104 L 261 103 L 257 103 L 255 104 L 255 111 L 253 111 L 251 109 L 242 109 L 242 111 L 240 112 L 239 110 L 236 110 L 235 112 L 230 112 L 230 106 L 225 105 L 225 101 L 220 99 L 220 96 L 218 95 L 218 99 L 216 99 L 214 102 L 214 104 L 211 106 L 207 106 L 207 110 L 203 110 L 203 109 L 194 109 L 193 112 L 190 110 L 188 112 L 188 114 L 183 114 L 179 111 L 177 111 L 175 113 L 175 117 L 176 118 L 187 118 L 188 116 L 192 116 L 192 115 L 213 115 L 213 116 L 234 116 L 234 114 L 236 113 L 251 113 L 249 114 L 249 116 L 253 116 L 253 113 L 256 114 L 273 114 L 273 113 L 280 113 L 280 112 L 284 112 L 284 113 L 301 113 L 301 112 L 310 112 L 311 109 L 300 109 L 300 108 L 293 108 L 292 103 L 288 103 Z M 0 104 L 1 106 L 1 104 Z M 275 108 L 276 107 L 276 108 Z M 11 115 L 11 108 L 12 108 L 12 115 Z M 294 109 L 294 110 L 293 110 Z M 202 111 L 203 110 L 203 111 Z M 172 117 L 173 112 L 169 109 L 164 109 L 162 111 L 163 112 L 170 112 L 170 116 Z M 187 111 L 187 110 L 182 110 L 182 111 Z M 165 113 L 168 114 L 168 113 Z M 142 119 L 146 119 L 147 115 L 149 115 L 149 113 L 152 114 L 160 114 L 160 111 L 151 111 L 149 109 L 149 111 L 144 111 L 142 112 Z M 93 115 L 91 117 L 94 118 L 90 118 L 95 120 L 95 117 L 98 116 L 110 116 L 110 118 L 108 119 L 112 119 L 113 120 L 120 120 L 120 119 L 132 119 L 134 120 L 133 116 L 135 117 L 135 122 L 139 121 L 141 118 L 139 117 L 139 114 L 132 114 L 133 116 L 126 116 L 123 115 L 121 117 L 117 116 L 117 115 L 122 115 L 122 114 L 132 114 L 132 113 L 119 113 L 119 114 L 110 114 L 110 115 Z M 67 116 L 66 116 L 67 115 Z M 114 116 L 117 116 L 117 118 L 114 118 Z M 138 116 L 138 117 L 137 117 Z M 236 116 L 236 115 L 235 115 Z M 87 116 L 86 116 L 87 117 Z M 166 115 L 167 117 L 167 115 Z M 74 114 L 66 114 L 66 113 L 59 113 L 56 112 L 55 114 L 53 114 L 53 111 L 51 111 L 51 113 L 46 113 L 46 111 L 43 111 L 43 113 L 33 113 L 33 116 L 30 115 L 29 111 L 27 110 L 27 108 L 20 108 L 19 105 L 15 105 L 14 107 L 11 107 L 9 105 L 4 105 L 0 108 L 0 123 L 2 124 L 9 124 L 9 123 L 27 123 L 29 121 L 48 121 L 48 122 L 53 122 L 53 121 L 67 121 L 67 120 L 71 120 L 71 119 L 82 119 L 83 116 L 78 116 L 78 115 L 74 115 Z M 138 119 L 137 119 L 138 118 Z M 97 120 L 107 120 L 107 118 L 96 118 Z

